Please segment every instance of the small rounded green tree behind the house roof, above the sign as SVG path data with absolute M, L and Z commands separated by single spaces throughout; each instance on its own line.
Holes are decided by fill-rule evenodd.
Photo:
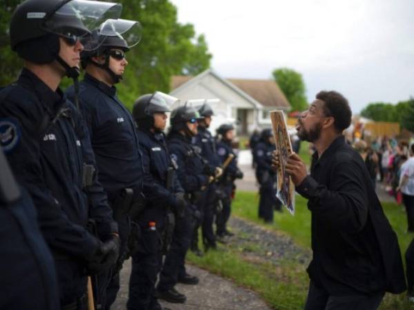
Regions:
M 284 92 L 286 99 L 292 106 L 292 111 L 306 110 L 308 101 L 302 74 L 289 68 L 279 68 L 273 71 L 273 79 Z

